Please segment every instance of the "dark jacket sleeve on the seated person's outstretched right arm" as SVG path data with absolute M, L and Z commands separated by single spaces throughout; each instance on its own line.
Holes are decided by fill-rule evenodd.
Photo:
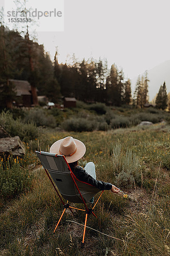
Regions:
M 86 182 L 90 185 L 97 187 L 100 190 L 110 190 L 112 188 L 112 184 L 100 180 L 95 180 L 91 175 L 89 175 L 84 168 L 81 166 L 76 166 L 74 169 L 74 175 L 78 180 Z

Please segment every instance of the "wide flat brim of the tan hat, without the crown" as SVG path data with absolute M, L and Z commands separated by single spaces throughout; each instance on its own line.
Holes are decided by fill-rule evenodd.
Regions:
M 51 145 L 50 153 L 60 154 L 59 146 L 60 146 L 62 140 L 64 140 L 64 139 L 57 140 L 56 142 L 53 143 L 53 145 Z M 77 151 L 71 157 L 65 156 L 65 159 L 67 160 L 68 163 L 72 163 L 72 162 L 79 160 L 80 158 L 82 158 L 84 156 L 85 151 L 86 151 L 85 144 L 82 143 L 82 141 L 77 140 L 77 139 L 74 139 L 74 141 L 77 145 Z

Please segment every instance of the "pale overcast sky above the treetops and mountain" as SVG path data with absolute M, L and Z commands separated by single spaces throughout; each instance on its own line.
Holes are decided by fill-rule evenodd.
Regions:
M 28 3 L 48 9 L 57 0 Z M 58 46 L 59 62 L 73 52 L 79 59 L 105 57 L 133 79 L 170 60 L 169 13 L 170 0 L 64 0 L 64 31 L 38 32 L 38 42 L 52 59 Z

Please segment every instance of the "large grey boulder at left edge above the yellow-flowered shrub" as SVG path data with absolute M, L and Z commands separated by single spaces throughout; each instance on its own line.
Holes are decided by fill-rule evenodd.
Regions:
M 0 139 L 0 154 L 11 154 L 22 157 L 26 149 L 19 136 Z

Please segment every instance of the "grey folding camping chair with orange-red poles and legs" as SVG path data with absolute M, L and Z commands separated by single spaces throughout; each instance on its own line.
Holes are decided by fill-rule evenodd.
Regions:
M 44 152 L 44 151 L 40 151 L 40 152 L 35 151 L 35 152 L 36 152 L 37 156 L 39 157 L 39 159 L 42 163 L 42 166 L 44 167 L 45 172 L 46 172 L 49 180 L 51 181 L 55 191 L 57 192 L 57 195 L 59 196 L 59 198 L 63 204 L 63 207 L 64 207 L 64 210 L 62 212 L 61 217 L 59 218 L 57 226 L 54 229 L 54 232 L 57 229 L 59 222 L 61 221 L 61 218 L 62 218 L 63 214 L 65 213 L 66 209 L 70 209 L 72 214 L 73 214 L 72 209 L 84 211 L 85 212 L 85 225 L 84 225 L 84 231 L 83 231 L 83 237 L 82 237 L 82 246 L 83 246 L 84 241 L 85 241 L 85 229 L 86 229 L 88 215 L 92 214 L 97 218 L 97 216 L 94 214 L 94 207 L 96 206 L 97 202 L 99 201 L 99 198 L 101 197 L 104 190 L 99 195 L 99 198 L 97 199 L 93 208 L 88 208 L 86 203 L 89 202 L 89 200 L 101 190 L 99 190 L 98 188 L 96 188 L 88 183 L 78 180 L 75 177 L 74 173 L 71 171 L 70 166 L 68 165 L 67 160 L 65 159 L 64 155 L 53 154 L 53 153 L 48 153 L 48 152 Z M 48 172 L 50 175 L 48 174 Z M 62 195 L 62 197 L 67 200 L 66 204 L 62 200 L 61 195 L 59 195 L 59 192 L 57 191 L 57 188 L 55 187 L 50 176 L 52 177 L 54 183 L 57 185 L 57 188 L 59 189 L 59 192 Z M 71 207 L 68 204 L 68 201 L 72 202 L 72 203 L 84 204 L 85 209 Z

